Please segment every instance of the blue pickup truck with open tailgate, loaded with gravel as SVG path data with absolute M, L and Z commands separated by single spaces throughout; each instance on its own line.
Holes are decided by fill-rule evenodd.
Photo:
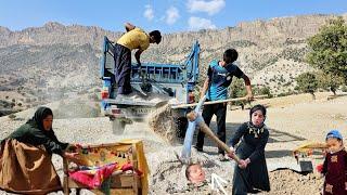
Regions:
M 175 99 L 177 104 L 194 102 L 193 91 L 198 79 L 200 44 L 193 43 L 191 52 L 182 64 L 142 63 L 141 67 L 131 66 L 131 86 L 144 96 L 159 94 Z M 113 122 L 113 131 L 121 134 L 127 123 L 143 120 L 147 114 L 163 105 L 163 102 L 152 102 L 146 99 L 117 100 L 114 76 L 114 44 L 104 37 L 103 54 L 101 57 L 101 109 L 104 116 Z M 167 100 L 167 99 L 166 99 Z M 164 102 L 165 103 L 165 102 Z M 175 119 L 178 130 L 185 130 L 187 108 L 175 109 Z

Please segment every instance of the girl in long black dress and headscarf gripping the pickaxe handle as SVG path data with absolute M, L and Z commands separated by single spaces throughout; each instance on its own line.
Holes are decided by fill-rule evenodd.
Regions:
M 229 156 L 234 155 L 236 146 L 236 155 L 241 159 L 234 169 L 232 187 L 234 195 L 255 193 L 257 190 L 270 191 L 265 159 L 265 146 L 269 139 L 268 128 L 264 123 L 266 114 L 267 110 L 262 105 L 254 106 L 249 112 L 249 121 L 241 125 L 230 140 Z

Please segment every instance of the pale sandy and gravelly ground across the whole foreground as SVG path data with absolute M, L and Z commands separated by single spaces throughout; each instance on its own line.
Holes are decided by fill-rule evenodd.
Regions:
M 345 108 L 347 96 L 327 101 L 327 93 L 319 93 L 316 101 L 312 101 L 309 94 L 301 94 L 253 103 L 268 106 L 266 123 L 270 128 L 270 140 L 266 147 L 266 156 L 270 171 L 271 192 L 262 194 L 320 194 L 323 179 L 317 172 L 303 176 L 285 168 L 299 170 L 292 156 L 292 151 L 309 141 L 324 141 L 330 129 L 339 129 L 344 138 L 347 138 L 347 109 Z M 56 104 L 49 106 L 55 109 Z M 34 112 L 34 109 L 21 112 L 16 114 L 15 120 L 1 117 L 0 139 L 5 138 L 24 123 Z M 228 112 L 227 136 L 230 138 L 240 123 L 247 121 L 248 116 L 248 109 Z M 136 122 L 127 126 L 121 136 L 112 133 L 112 125 L 104 117 L 56 119 L 53 128 L 61 141 L 74 143 L 111 143 L 125 138 L 142 139 L 151 170 L 150 194 L 218 194 L 213 192 L 208 184 L 188 185 L 182 172 L 184 169 L 175 155 L 175 153 L 180 154 L 181 145 L 168 145 L 158 135 L 151 132 L 146 123 Z M 211 128 L 216 129 L 215 122 L 211 123 Z M 207 182 L 210 181 L 211 173 L 227 180 L 226 191 L 230 193 L 234 162 L 219 161 L 216 155 L 217 148 L 208 139 L 205 145 L 204 153 L 192 151 L 193 159 L 203 165 Z M 62 176 L 62 159 L 53 156 L 53 162 Z M 313 159 L 313 166 L 318 162 L 322 162 L 322 158 Z M 82 194 L 90 193 L 82 191 Z

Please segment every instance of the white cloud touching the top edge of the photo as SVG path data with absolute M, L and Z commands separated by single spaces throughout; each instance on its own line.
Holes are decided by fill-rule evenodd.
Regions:
M 189 12 L 206 12 L 208 15 L 218 13 L 226 6 L 224 0 L 189 0 L 187 3 Z

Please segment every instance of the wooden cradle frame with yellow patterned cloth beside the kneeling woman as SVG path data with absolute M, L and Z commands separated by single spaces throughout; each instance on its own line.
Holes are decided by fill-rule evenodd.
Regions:
M 123 165 L 130 161 L 133 165 L 134 172 L 138 169 L 137 158 L 137 145 L 134 143 L 113 143 L 113 144 L 100 144 L 89 145 L 86 148 L 78 150 L 77 152 L 81 156 L 82 160 L 79 162 L 81 166 L 103 166 L 111 162 L 118 162 Z M 69 194 L 69 188 L 76 188 L 77 194 L 81 188 L 88 188 L 88 186 L 80 184 L 68 177 L 69 161 L 64 158 L 64 194 Z M 111 194 L 141 194 L 141 178 L 137 173 L 119 173 L 113 174 L 111 181 Z M 90 190 L 95 194 L 103 194 L 99 190 Z

